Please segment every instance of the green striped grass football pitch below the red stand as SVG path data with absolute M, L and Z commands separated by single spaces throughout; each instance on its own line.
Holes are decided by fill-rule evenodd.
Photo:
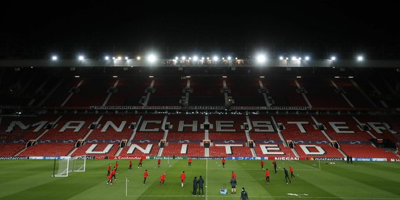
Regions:
M 107 165 L 118 161 L 117 181 L 107 185 Z M 239 199 L 245 187 L 249 199 L 400 199 L 399 162 L 317 162 L 277 161 L 274 173 L 271 160 L 270 184 L 259 160 L 194 159 L 192 167 L 184 159 L 146 159 L 142 168 L 133 160 L 87 160 L 86 171 L 69 177 L 52 177 L 54 160 L 0 160 L 0 199 Z M 286 184 L 283 168 L 292 166 L 296 179 Z M 143 184 L 144 170 L 149 177 Z M 182 171 L 186 182 L 181 187 Z M 237 175 L 236 195 L 230 194 L 230 175 Z M 159 177 L 166 173 L 164 187 Z M 192 180 L 205 180 L 204 197 L 192 196 Z M 227 188 L 227 195 L 221 188 Z M 197 191 L 197 195 L 199 192 Z

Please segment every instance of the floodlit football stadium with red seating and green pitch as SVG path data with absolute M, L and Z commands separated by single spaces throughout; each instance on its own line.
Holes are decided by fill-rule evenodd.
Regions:
M 0 196 L 185 199 L 202 176 L 197 198 L 400 199 L 400 74 L 375 62 L 2 61 Z

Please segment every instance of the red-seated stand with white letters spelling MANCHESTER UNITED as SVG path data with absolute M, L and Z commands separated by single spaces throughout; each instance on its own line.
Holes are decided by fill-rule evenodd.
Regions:
M 126 70 L 1 68 L 0 156 L 399 158 L 389 69 Z

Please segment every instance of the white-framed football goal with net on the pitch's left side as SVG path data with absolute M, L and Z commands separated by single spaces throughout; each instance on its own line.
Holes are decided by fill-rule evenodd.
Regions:
M 69 173 L 85 172 L 86 155 L 54 159 L 53 177 L 68 177 Z

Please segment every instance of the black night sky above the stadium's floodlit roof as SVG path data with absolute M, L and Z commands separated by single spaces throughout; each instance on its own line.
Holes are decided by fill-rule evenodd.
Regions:
M 11 1 L 1 43 L 399 45 L 395 1 Z

